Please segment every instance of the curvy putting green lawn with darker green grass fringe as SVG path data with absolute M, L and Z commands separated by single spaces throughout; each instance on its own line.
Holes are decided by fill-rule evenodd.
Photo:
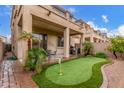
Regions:
M 85 57 L 62 63 L 63 75 L 60 76 L 59 65 L 55 64 L 41 74 L 33 76 L 39 87 L 100 87 L 103 81 L 101 66 L 108 63 L 106 59 Z

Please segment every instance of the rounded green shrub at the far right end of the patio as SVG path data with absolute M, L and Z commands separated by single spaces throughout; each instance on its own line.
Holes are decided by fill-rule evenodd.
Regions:
M 92 52 L 92 49 L 93 49 L 93 45 L 91 42 L 85 41 L 83 43 L 83 51 L 85 56 L 90 55 Z

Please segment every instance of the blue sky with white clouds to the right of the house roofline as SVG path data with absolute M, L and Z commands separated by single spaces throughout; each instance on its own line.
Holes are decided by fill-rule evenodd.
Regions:
M 124 36 L 124 6 L 119 5 L 72 5 L 63 6 L 92 27 L 104 30 L 108 35 Z

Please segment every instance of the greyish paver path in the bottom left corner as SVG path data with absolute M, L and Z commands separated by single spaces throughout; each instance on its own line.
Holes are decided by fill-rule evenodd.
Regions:
M 13 61 L 4 61 L 0 66 L 0 87 L 20 87 L 14 76 Z

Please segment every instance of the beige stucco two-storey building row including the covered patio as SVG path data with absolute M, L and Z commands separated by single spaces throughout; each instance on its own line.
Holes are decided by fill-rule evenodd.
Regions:
M 25 60 L 27 42 L 18 40 L 23 31 L 31 32 L 41 40 L 40 46 L 50 50 L 56 56 L 69 58 L 70 47 L 77 47 L 82 53 L 82 42 L 90 38 L 91 42 L 106 42 L 106 36 L 93 30 L 84 21 L 77 20 L 60 6 L 53 5 L 15 5 L 11 17 L 12 50 Z M 87 33 L 88 32 L 88 33 Z M 32 41 L 32 47 L 38 46 Z

